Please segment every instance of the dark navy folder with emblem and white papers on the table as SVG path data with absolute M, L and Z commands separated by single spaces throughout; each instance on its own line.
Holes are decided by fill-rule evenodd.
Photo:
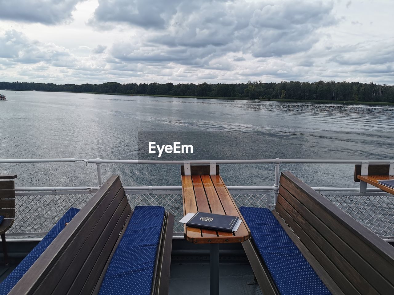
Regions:
M 235 232 L 238 230 L 242 220 L 238 216 L 197 212 L 195 214 L 186 214 L 180 222 L 186 223 L 190 227 Z

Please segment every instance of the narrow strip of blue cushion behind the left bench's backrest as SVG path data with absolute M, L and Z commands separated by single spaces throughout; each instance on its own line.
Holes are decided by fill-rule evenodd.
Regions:
M 80 209 L 70 208 L 59 219 L 59 221 L 52 227 L 52 229 L 45 235 L 45 237 L 34 247 L 34 249 L 15 267 L 15 269 L 6 277 L 0 284 L 0 295 L 6 295 L 17 284 L 22 276 L 28 271 L 33 263 L 45 251 L 50 243 L 58 236 L 58 234 L 65 228 L 65 223 L 70 222 L 71 219 L 78 213 Z

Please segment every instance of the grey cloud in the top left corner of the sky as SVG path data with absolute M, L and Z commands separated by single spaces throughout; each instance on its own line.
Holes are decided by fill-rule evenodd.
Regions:
M 1 18 L 58 24 L 71 20 L 76 4 L 82 1 L 84 0 L 0 0 Z

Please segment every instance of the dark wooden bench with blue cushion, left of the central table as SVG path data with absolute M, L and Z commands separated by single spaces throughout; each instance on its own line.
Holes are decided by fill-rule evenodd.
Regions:
M 149 208 L 154 212 L 151 215 Z M 87 295 L 112 291 L 120 294 L 116 289 L 108 289 L 112 285 L 111 288 L 126 287 L 129 294 L 134 294 L 139 288 L 147 288 L 147 284 L 150 293 L 167 294 L 174 219 L 164 208 L 158 210 L 160 208 L 136 207 L 133 212 L 119 176 L 112 176 L 50 243 L 9 295 Z M 142 216 L 138 213 L 141 211 Z M 162 212 L 162 216 L 157 212 Z M 158 217 L 162 223 L 152 226 L 152 220 Z M 142 227 L 158 231 L 157 246 L 145 243 L 144 239 L 154 234 Z M 128 247 L 133 242 L 140 242 L 139 247 L 144 248 Z M 133 265 L 148 254 L 150 261 L 141 262 L 142 270 Z M 128 286 L 119 284 L 112 275 L 117 271 L 117 264 L 134 266 L 134 271 L 118 269 L 128 278 Z M 130 276 L 138 276 L 139 280 L 147 277 L 149 282 L 135 286 L 134 277 Z

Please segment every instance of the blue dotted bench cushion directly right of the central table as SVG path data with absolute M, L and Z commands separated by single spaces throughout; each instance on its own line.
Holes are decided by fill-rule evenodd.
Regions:
M 241 207 L 240 212 L 279 293 L 331 294 L 269 209 Z

